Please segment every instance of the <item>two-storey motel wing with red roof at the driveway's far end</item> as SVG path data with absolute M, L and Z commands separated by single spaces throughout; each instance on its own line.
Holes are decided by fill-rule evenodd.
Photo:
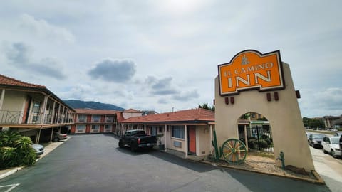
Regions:
M 72 134 L 115 132 L 115 110 L 75 109 L 75 124 L 71 126 Z

